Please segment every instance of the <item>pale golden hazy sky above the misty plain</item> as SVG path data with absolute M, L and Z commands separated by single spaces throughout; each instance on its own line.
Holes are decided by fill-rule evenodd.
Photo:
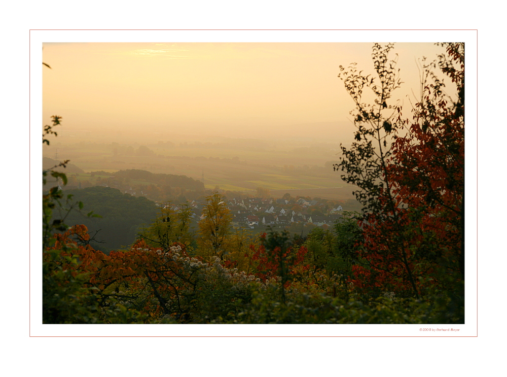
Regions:
M 353 102 L 337 77 L 357 62 L 373 73 L 371 43 L 45 43 L 43 120 L 66 130 L 295 132 L 287 126 L 346 126 Z M 400 43 L 398 97 L 419 92 L 416 59 L 430 43 Z M 350 123 L 351 124 L 351 123 Z M 311 129 L 302 129 L 311 132 Z

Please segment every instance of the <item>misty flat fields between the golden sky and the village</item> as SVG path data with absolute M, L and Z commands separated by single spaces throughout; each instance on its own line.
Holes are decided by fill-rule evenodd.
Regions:
M 63 133 L 62 139 L 68 141 Z M 263 144 L 264 148 L 252 147 Z M 285 142 L 286 143 L 286 142 Z M 45 167 L 60 160 L 70 160 L 80 169 L 69 174 L 70 186 L 87 187 L 103 184 L 100 172 L 114 173 L 118 170 L 139 169 L 155 174 L 171 174 L 190 177 L 204 183 L 205 189 L 254 193 L 257 187 L 270 190 L 274 197 L 281 197 L 289 190 L 293 196 L 319 196 L 335 200 L 353 198 L 350 187 L 342 182 L 333 171 L 332 164 L 338 161 L 339 145 L 313 144 L 310 146 L 283 145 L 267 146 L 260 140 L 229 138 L 226 143 L 211 142 L 161 142 L 156 144 L 132 145 L 55 143 L 45 151 Z M 293 143 L 294 144 L 294 143 Z M 303 144 L 304 145 L 304 144 Z M 53 159 L 54 161 L 50 160 Z M 51 165 L 53 166 L 53 165 Z M 90 175 L 95 172 L 94 177 Z M 100 178 L 100 179 L 99 179 Z M 97 179 L 99 179 L 97 181 Z M 119 182 L 117 188 L 142 191 L 149 182 L 135 181 L 129 185 Z M 115 187 L 115 184 L 109 185 Z M 304 191 L 303 191 L 304 190 Z M 146 192 L 146 190 L 144 190 Z M 148 194 L 152 200 L 172 200 L 174 192 Z

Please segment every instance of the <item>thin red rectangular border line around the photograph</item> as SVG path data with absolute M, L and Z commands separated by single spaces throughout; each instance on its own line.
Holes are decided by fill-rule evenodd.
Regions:
M 29 159 L 29 163 L 28 163 L 28 174 L 29 174 L 29 177 L 28 177 L 28 185 L 29 185 L 29 188 L 28 188 L 28 205 L 29 205 L 29 214 L 28 214 L 28 219 L 29 219 L 29 224 L 28 224 L 28 229 L 29 229 L 29 232 L 31 234 L 31 138 L 30 138 L 30 134 L 31 134 L 31 31 L 32 30 L 96 30 L 96 31 L 103 31 L 103 30 L 111 30 L 111 31 L 115 31 L 115 30 L 132 30 L 132 31 L 136 31 L 136 30 L 153 30 L 153 31 L 164 31 L 164 30 L 178 30 L 178 31 L 189 31 L 189 30 L 216 30 L 216 31 L 226 31 L 226 30 L 231 30 L 231 31 L 234 31 L 234 30 L 252 30 L 252 31 L 258 31 L 258 30 L 266 30 L 266 31 L 276 31 L 276 30 L 298 30 L 298 31 L 311 31 L 311 30 L 317 30 L 317 31 L 340 31 L 340 30 L 347 30 L 347 31 L 357 31 L 357 30 L 383 30 L 383 31 L 398 31 L 398 30 L 414 30 L 414 31 L 419 31 L 419 30 L 456 30 L 456 31 L 473 31 L 475 30 L 476 31 L 476 72 L 477 72 L 477 76 L 476 76 L 476 84 L 477 84 L 477 97 L 476 97 L 476 109 L 477 109 L 477 113 L 476 113 L 476 126 L 477 126 L 477 129 L 476 129 L 476 134 L 477 134 L 477 139 L 476 139 L 476 149 L 477 149 L 477 157 L 476 157 L 476 160 L 477 160 L 477 166 L 476 166 L 476 175 L 477 177 L 479 176 L 479 97 L 478 97 L 478 94 L 479 94 L 479 29 L 29 29 L 29 32 L 28 32 L 28 46 L 29 46 L 29 51 L 28 51 L 28 56 L 29 56 L 29 62 L 28 62 L 28 107 L 29 107 L 29 111 L 28 111 L 28 146 L 29 146 L 29 151 L 28 151 L 28 159 Z M 476 217 L 477 217 L 477 223 L 476 223 L 476 234 L 477 234 L 477 239 L 476 239 L 476 276 L 477 276 L 477 291 L 476 291 L 476 335 L 464 335 L 464 336 L 419 336 L 419 335 L 416 335 L 416 336 L 410 336 L 410 335 L 395 335 L 395 336 L 384 336 L 384 335 L 372 335 L 372 336 L 368 336 L 368 335 L 343 335 L 343 336 L 340 336 L 340 335 L 336 335 L 336 336 L 333 336 L 333 335 L 330 335 L 330 336 L 319 336 L 319 335 L 309 335 L 309 336 L 284 336 L 284 335 L 280 335 L 280 336 L 227 336 L 227 335 L 224 335 L 224 336 L 220 336 L 220 335 L 209 335 L 209 336 L 193 336 L 193 335 L 188 335 L 188 336 L 185 336 L 185 335 L 175 335 L 175 336 L 166 336 L 166 335 L 161 335 L 161 336 L 152 336 L 152 335 L 136 335 L 136 336 L 116 336 L 116 335 L 97 335 L 97 336 L 71 336 L 71 335 L 31 335 L 31 237 L 29 237 L 28 239 L 28 255 L 29 255 L 29 263 L 28 263 L 28 272 L 29 272 L 29 277 L 28 277 L 28 310 L 29 310 L 29 313 L 28 313 L 28 334 L 30 337 L 424 337 L 424 338 L 427 338 L 427 337 L 478 337 L 479 336 L 479 181 L 476 182 L 476 192 L 477 192 L 477 201 L 476 201 L 476 210 L 477 210 L 477 214 L 476 214 Z

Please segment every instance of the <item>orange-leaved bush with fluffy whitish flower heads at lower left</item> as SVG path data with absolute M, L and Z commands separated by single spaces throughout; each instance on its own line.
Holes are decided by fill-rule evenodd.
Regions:
M 238 305 L 251 299 L 252 287 L 262 285 L 256 276 L 224 267 L 216 256 L 209 262 L 190 257 L 178 244 L 162 250 L 139 241 L 129 251 L 112 251 L 107 256 L 71 239 L 76 234 L 86 238 L 85 233 L 86 227 L 77 226 L 55 235 L 52 250 L 62 245 L 72 250 L 62 256 L 73 254 L 79 263 L 62 260 L 61 268 L 72 276 L 86 276 L 84 284 L 93 287 L 102 311 L 120 304 L 147 313 L 152 320 L 207 322 L 236 313 Z

